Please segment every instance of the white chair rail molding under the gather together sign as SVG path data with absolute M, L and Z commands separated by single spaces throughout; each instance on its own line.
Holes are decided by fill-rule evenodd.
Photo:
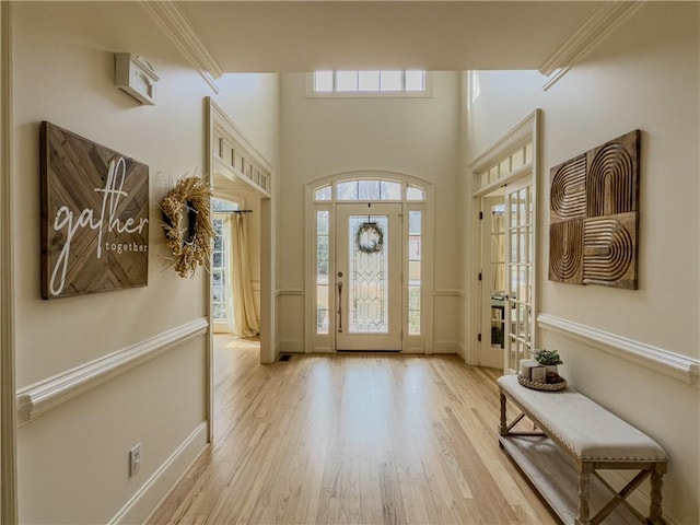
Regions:
M 206 317 L 194 319 L 131 347 L 20 388 L 16 393 L 20 424 L 28 423 L 44 412 L 175 347 L 206 335 L 208 327 Z

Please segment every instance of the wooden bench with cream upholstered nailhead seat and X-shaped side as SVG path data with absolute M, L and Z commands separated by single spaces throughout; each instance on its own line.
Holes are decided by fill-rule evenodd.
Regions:
M 515 375 L 502 376 L 498 384 L 500 444 L 563 523 L 664 523 L 662 476 L 668 460 L 655 441 L 571 388 L 535 390 L 522 386 Z M 510 423 L 506 399 L 521 410 Z M 524 417 L 537 430 L 516 431 Z M 638 472 L 616 490 L 598 472 L 604 469 Z M 650 514 L 644 517 L 627 498 L 650 475 Z M 593 517 L 592 509 L 597 509 Z

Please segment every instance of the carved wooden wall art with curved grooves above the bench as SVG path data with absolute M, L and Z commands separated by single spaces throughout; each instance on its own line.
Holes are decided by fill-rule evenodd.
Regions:
M 640 135 L 551 168 L 549 280 L 637 290 Z

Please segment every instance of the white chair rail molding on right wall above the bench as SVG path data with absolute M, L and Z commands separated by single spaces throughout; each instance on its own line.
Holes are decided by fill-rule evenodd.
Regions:
M 555 315 L 539 314 L 539 328 L 563 334 L 606 353 L 646 366 L 700 388 L 700 360 L 653 347 L 627 337 L 598 330 Z

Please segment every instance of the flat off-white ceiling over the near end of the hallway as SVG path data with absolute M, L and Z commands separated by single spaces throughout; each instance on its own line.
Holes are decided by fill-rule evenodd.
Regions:
M 539 69 L 597 1 L 180 1 L 224 72 Z

